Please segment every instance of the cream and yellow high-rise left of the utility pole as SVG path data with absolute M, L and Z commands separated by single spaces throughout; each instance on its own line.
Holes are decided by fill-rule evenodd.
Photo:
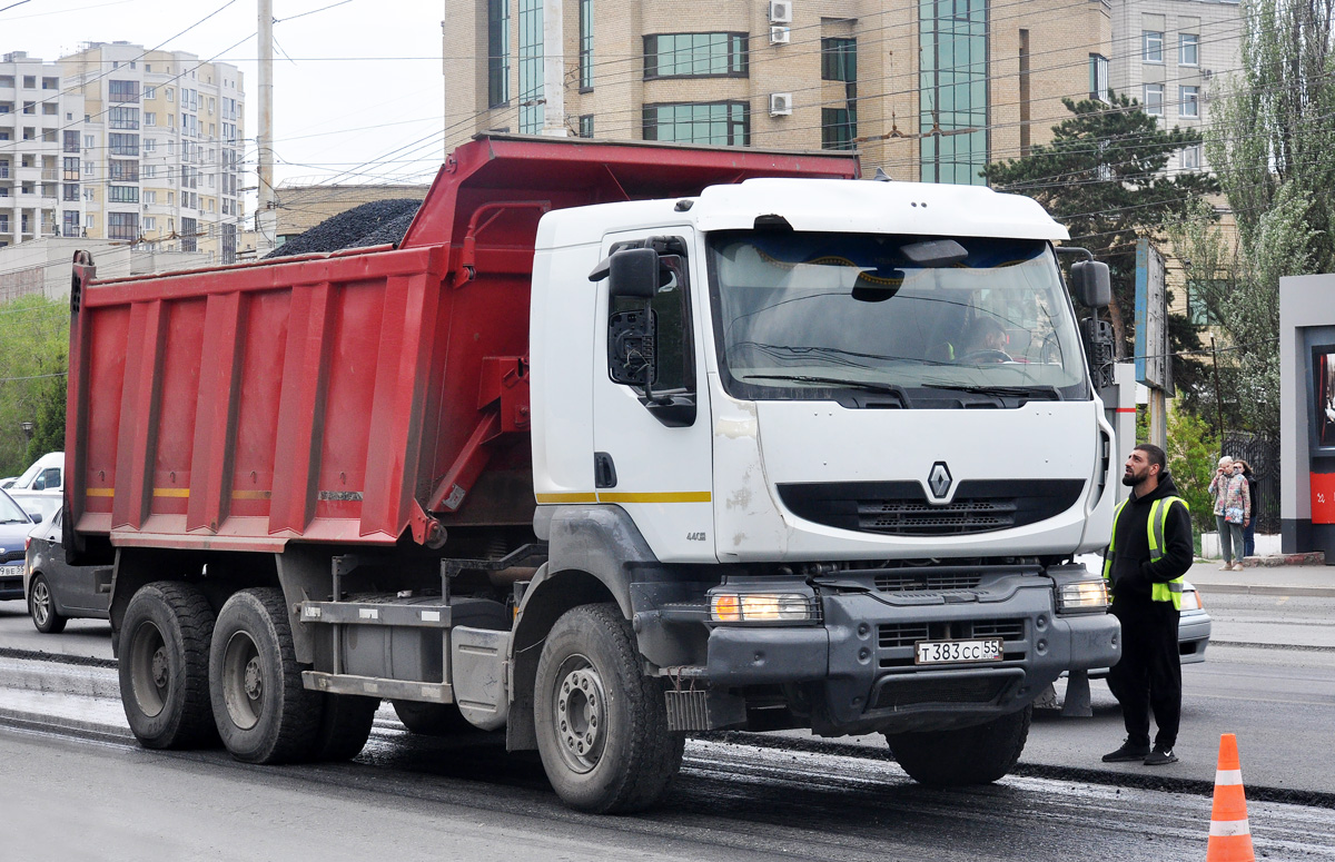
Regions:
M 242 72 L 184 51 L 88 43 L 60 59 L 83 99 L 83 232 L 236 259 L 243 224 Z

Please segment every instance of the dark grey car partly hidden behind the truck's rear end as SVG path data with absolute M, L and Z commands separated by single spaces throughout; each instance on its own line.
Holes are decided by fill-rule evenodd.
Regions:
M 111 598 L 111 566 L 71 566 L 60 543 L 64 512 L 28 535 L 24 594 L 32 624 L 43 634 L 57 634 L 72 616 L 107 619 Z

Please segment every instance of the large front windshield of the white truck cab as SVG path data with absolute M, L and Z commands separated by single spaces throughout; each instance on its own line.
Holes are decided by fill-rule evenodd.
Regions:
M 746 399 L 832 390 L 1088 398 L 1047 242 L 729 231 L 710 236 L 720 367 Z M 825 392 L 821 392 L 825 390 Z

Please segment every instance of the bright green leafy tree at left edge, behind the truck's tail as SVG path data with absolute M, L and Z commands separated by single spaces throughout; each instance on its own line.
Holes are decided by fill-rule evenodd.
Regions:
M 23 296 L 0 307 L 0 475 L 17 475 L 32 452 L 64 448 L 68 354 L 64 300 Z

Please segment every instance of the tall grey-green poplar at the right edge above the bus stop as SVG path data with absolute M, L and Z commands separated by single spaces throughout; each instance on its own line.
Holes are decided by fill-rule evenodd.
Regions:
M 1279 434 L 1279 279 L 1335 271 L 1332 0 L 1243 0 L 1242 72 L 1212 92 L 1206 155 L 1238 246 L 1200 235 L 1189 290 L 1227 335 L 1231 424 Z

